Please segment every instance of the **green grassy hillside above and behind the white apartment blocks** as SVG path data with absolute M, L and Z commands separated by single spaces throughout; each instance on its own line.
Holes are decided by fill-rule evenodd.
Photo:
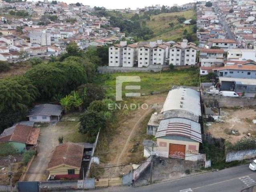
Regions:
M 186 29 L 188 32 L 192 31 L 192 25 L 185 26 L 177 21 L 179 17 L 186 19 L 195 18 L 196 13 L 194 10 L 174 13 L 162 13 L 150 17 L 150 21 L 146 25 L 153 30 L 154 38 L 150 40 L 162 39 L 164 41 L 174 40 L 178 41 L 182 38 L 183 31 Z M 170 27 L 169 23 L 174 23 L 174 27 Z

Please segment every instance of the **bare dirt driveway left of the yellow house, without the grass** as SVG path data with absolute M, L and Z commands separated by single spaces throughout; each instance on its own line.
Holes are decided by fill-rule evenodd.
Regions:
M 46 169 L 54 147 L 58 145 L 58 137 L 62 135 L 61 128 L 56 123 L 40 128 L 38 154 L 34 158 L 26 175 L 26 181 L 43 181 L 48 177 Z

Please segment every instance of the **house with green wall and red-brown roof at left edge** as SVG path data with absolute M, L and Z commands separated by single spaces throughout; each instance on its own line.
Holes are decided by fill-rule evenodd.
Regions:
M 17 124 L 2 132 L 0 143 L 11 143 L 21 153 L 37 145 L 39 132 L 40 128 Z

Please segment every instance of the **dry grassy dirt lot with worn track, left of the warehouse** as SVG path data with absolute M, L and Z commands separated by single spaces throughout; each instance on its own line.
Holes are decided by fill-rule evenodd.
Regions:
M 118 127 L 108 146 L 110 152 L 96 151 L 95 156 L 100 156 L 100 160 L 103 158 L 105 160 L 104 163 L 100 164 L 101 167 L 130 164 L 144 160 L 142 141 L 148 137 L 146 124 L 154 110 L 160 111 L 166 96 L 167 93 L 144 96 L 143 103 L 148 104 L 147 110 L 133 110 L 129 114 L 121 114 L 118 117 Z M 131 150 L 132 148 L 136 148 L 136 150 Z M 119 176 L 131 169 L 132 165 L 105 169 L 104 173 L 100 173 L 100 177 Z

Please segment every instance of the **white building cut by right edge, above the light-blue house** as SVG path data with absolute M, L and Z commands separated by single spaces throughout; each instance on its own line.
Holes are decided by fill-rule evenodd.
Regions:
M 228 60 L 254 60 L 256 61 L 256 50 L 253 49 L 228 49 Z

